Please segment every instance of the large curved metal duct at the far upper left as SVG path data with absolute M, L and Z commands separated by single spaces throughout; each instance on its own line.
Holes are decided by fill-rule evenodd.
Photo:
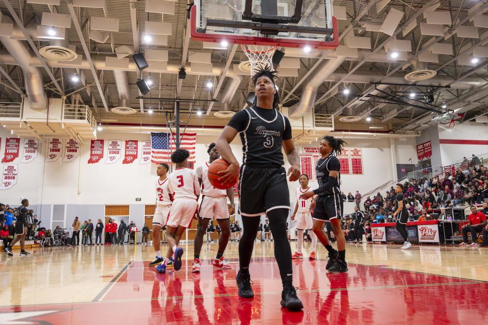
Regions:
M 3 23 L 13 23 L 12 19 L 3 16 Z M 27 48 L 23 41 L 13 40 L 9 36 L 0 36 L 0 43 L 2 43 L 7 51 L 15 57 L 16 65 L 22 69 L 25 82 L 25 93 L 28 99 L 32 102 L 32 108 L 45 108 L 47 103 L 47 96 L 44 92 L 44 82 L 42 72 L 39 68 L 32 67 L 33 60 L 32 52 Z

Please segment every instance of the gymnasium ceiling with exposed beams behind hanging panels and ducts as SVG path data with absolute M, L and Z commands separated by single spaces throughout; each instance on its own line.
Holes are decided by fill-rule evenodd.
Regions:
M 0 1 L 0 9 L 4 16 L 12 17 L 9 8 L 6 5 L 9 2 L 16 15 L 21 19 L 25 27 L 32 28 L 41 23 L 42 15 L 45 12 L 57 12 L 60 14 L 70 14 L 70 10 L 66 0 L 61 0 L 59 6 L 48 6 L 45 4 L 35 4 L 32 2 L 42 3 L 41 0 L 28 1 L 28 0 L 2 0 Z M 29 2 L 29 3 L 27 3 Z M 47 1 L 46 1 L 47 2 Z M 71 3 L 71 0 L 68 1 Z M 102 2 L 102 0 L 100 0 Z M 158 21 L 162 20 L 162 15 L 158 13 L 145 12 L 145 1 L 137 0 L 105 0 L 107 12 L 101 8 L 86 8 L 86 7 L 73 7 L 76 19 L 81 26 L 82 40 L 77 34 L 74 24 L 71 24 L 69 29 L 69 43 L 76 46 L 76 53 L 82 54 L 84 58 L 85 52 L 83 51 L 83 45 L 86 44 L 89 50 L 90 57 L 94 60 L 96 58 L 104 58 L 105 56 L 115 56 L 114 49 L 120 46 L 128 46 L 130 48 L 137 48 L 139 51 L 144 52 L 149 49 L 163 49 L 168 51 L 169 62 L 176 62 L 178 65 L 184 61 L 188 64 L 186 57 L 182 60 L 182 55 L 185 51 L 185 29 L 186 29 L 186 14 L 187 14 L 187 2 L 179 1 L 175 4 L 174 15 L 165 14 L 163 16 L 164 22 L 172 24 L 172 34 L 168 36 L 167 46 L 157 46 L 151 44 L 144 44 L 144 24 L 146 21 Z M 386 5 L 385 5 L 386 3 Z M 385 5 L 384 8 L 377 13 L 377 6 Z M 471 12 L 475 5 L 478 9 Z M 354 32 L 355 36 L 366 37 L 370 39 L 371 51 L 376 51 L 378 55 L 386 57 L 384 45 L 391 40 L 390 35 L 365 31 L 364 22 L 378 22 L 383 21 L 390 11 L 394 8 L 405 13 L 400 24 L 396 28 L 403 28 L 401 32 L 396 35 L 398 40 L 411 41 L 412 51 L 407 53 L 405 60 L 383 60 L 374 61 L 367 60 L 368 52 L 363 54 L 359 58 L 354 60 L 345 60 L 340 67 L 335 70 L 334 74 L 324 81 L 317 91 L 317 96 L 314 101 L 314 108 L 316 113 L 334 114 L 337 122 L 344 115 L 354 115 L 356 117 L 355 123 L 343 124 L 344 129 L 363 129 L 364 126 L 371 124 L 387 125 L 384 129 L 387 130 L 422 130 L 431 124 L 443 123 L 452 119 L 457 119 L 458 113 L 464 114 L 463 121 L 469 121 L 476 116 L 484 115 L 488 113 L 486 107 L 485 97 L 488 96 L 488 71 L 486 69 L 487 58 L 478 57 L 478 62 L 460 62 L 460 58 L 464 56 L 468 57 L 468 60 L 472 60 L 473 48 L 476 46 L 484 45 L 488 43 L 488 28 L 478 27 L 479 38 L 462 38 L 456 33 L 457 28 L 460 25 L 473 26 L 474 21 L 472 18 L 481 15 L 488 10 L 488 4 L 486 1 L 475 0 L 388 0 L 383 1 L 362 1 L 362 0 L 335 0 L 334 6 L 342 6 L 346 8 L 347 19 L 339 20 L 339 35 L 341 40 L 347 33 Z M 434 7 L 432 7 L 434 6 Z M 131 15 L 132 7 L 132 15 Z M 431 8 L 431 9 L 429 9 Z M 420 29 L 420 23 L 425 22 L 424 12 L 435 9 L 437 12 L 447 12 L 453 22 L 452 25 L 444 25 L 445 35 L 453 33 L 451 37 L 442 36 L 428 36 L 422 35 Z M 89 25 L 90 18 L 93 17 L 106 17 L 117 18 L 119 22 L 119 31 L 109 33 L 109 38 L 104 42 L 96 42 L 89 39 Z M 415 18 L 415 15 L 417 16 Z M 413 17 L 413 18 L 412 18 Z M 471 18 L 471 19 L 470 19 Z M 412 20 L 413 19 L 413 20 Z M 411 31 L 405 31 L 405 23 L 413 21 Z M 15 23 L 14 23 L 15 25 Z M 133 25 L 138 25 L 138 30 L 133 31 Z M 403 26 L 403 27 L 402 27 Z M 488 26 L 488 25 L 487 25 Z M 137 36 L 137 39 L 134 39 Z M 25 46 L 32 51 L 26 41 Z M 48 42 L 34 41 L 37 48 L 41 48 Z M 414 66 L 417 67 L 417 56 L 422 53 L 427 53 L 435 43 L 448 44 L 452 49 L 452 55 L 439 54 L 438 63 L 420 63 L 422 69 L 434 70 L 437 72 L 438 78 L 444 78 L 444 84 L 451 84 L 451 88 L 437 88 L 434 93 L 435 105 L 446 105 L 447 108 L 451 108 L 454 112 L 446 114 L 440 118 L 433 120 L 433 115 L 420 108 L 415 108 L 409 105 L 398 105 L 391 103 L 383 103 L 382 100 L 370 99 L 367 101 L 358 101 L 358 96 L 368 93 L 374 85 L 370 83 L 361 82 L 339 82 L 343 77 L 348 80 L 347 77 L 351 77 L 354 80 L 363 78 L 365 74 L 372 74 L 375 76 L 376 81 L 384 80 L 388 81 L 387 77 L 401 76 L 412 72 Z M 426 45 L 428 44 L 428 46 Z M 3 48 L 3 49 L 2 49 Z M 2 44 L 0 51 L 0 66 L 10 75 L 12 81 L 20 88 L 25 90 L 25 79 L 22 70 L 18 63 L 12 62 L 15 60 L 14 55 L 10 55 L 6 52 L 5 46 Z M 192 52 L 207 52 L 211 54 L 211 63 L 214 66 L 225 66 L 228 60 L 231 60 L 231 67 L 233 64 L 239 64 L 242 61 L 246 61 L 246 56 L 243 54 L 240 48 L 237 49 L 234 55 L 232 55 L 232 45 L 229 45 L 227 49 L 204 49 L 201 42 L 190 40 L 188 43 L 188 53 Z M 285 49 L 285 52 L 287 50 Z M 296 50 L 295 50 L 296 52 Z M 364 52 L 363 52 L 364 53 Z M 291 106 L 295 104 L 302 94 L 304 86 L 307 85 L 310 77 L 307 78 L 307 72 L 311 69 L 314 70 L 314 66 L 320 66 L 326 64 L 328 59 L 322 60 L 320 57 L 324 52 L 313 50 L 311 54 L 300 55 L 300 68 L 296 77 L 281 77 L 278 81 L 280 97 L 287 98 L 282 104 L 284 106 Z M 34 52 L 32 51 L 34 58 Z M 324 54 L 325 55 L 325 54 Z M 468 55 L 468 56 L 467 56 Z M 367 57 L 365 60 L 361 58 Z M 488 56 L 488 55 L 486 55 Z M 466 60 L 465 60 L 466 61 Z M 414 63 L 414 65 L 412 65 Z M 460 64 L 461 63 L 461 64 Z M 59 89 L 52 83 L 52 80 L 46 70 L 42 67 L 39 70 L 43 74 L 44 88 L 48 97 L 59 97 L 60 95 L 70 94 L 76 92 L 83 87 L 81 83 L 74 83 L 71 81 L 72 76 L 76 73 L 75 68 L 58 68 L 50 67 L 52 75 L 55 77 L 59 84 Z M 279 69 L 278 69 L 279 70 Z M 114 73 L 109 70 L 97 70 L 98 79 L 100 82 L 100 89 L 95 84 L 95 79 L 90 69 L 81 69 L 85 76 L 85 84 L 90 84 L 90 94 L 86 90 L 81 90 L 75 94 L 79 94 L 79 98 L 84 104 L 92 107 L 97 115 L 97 119 L 115 118 L 114 114 L 108 113 L 107 109 L 119 106 L 118 104 L 118 91 L 115 84 Z M 313 76 L 313 73 L 312 73 Z M 356 76 L 357 78 L 354 78 Z M 144 123 L 164 123 L 161 120 L 162 107 L 156 100 L 144 99 L 143 101 L 137 99 L 139 96 L 136 81 L 141 76 L 138 76 L 138 72 L 128 71 L 127 79 L 130 88 L 130 106 L 137 110 L 136 116 L 144 116 Z M 229 82 L 232 82 L 232 78 L 226 77 L 222 82 L 220 90 L 216 93 L 217 85 L 221 76 L 214 75 L 192 75 L 187 74 L 186 79 L 181 82 L 181 89 L 178 90 L 178 75 L 174 73 L 154 73 L 154 72 L 142 72 L 142 78 L 150 77 L 154 81 L 154 85 L 151 88 L 151 92 L 146 97 L 167 97 L 167 98 L 193 98 L 193 99 L 211 99 L 217 97 L 215 105 L 209 109 L 208 103 L 197 104 L 194 107 L 196 110 L 213 115 L 214 112 L 222 109 L 222 105 L 219 102 L 221 95 L 224 92 Z M 378 80 L 379 78 L 379 80 Z M 398 78 L 396 78 L 398 79 Z M 395 80 L 396 80 L 395 79 Z M 208 81 L 213 82 L 212 87 L 207 87 Z M 432 80 L 420 81 L 419 84 L 430 84 Z M 0 79 L 0 101 L 1 102 L 13 102 L 19 101 L 19 94 L 14 90 L 13 86 L 7 78 L 2 75 Z M 408 82 L 404 80 L 404 82 Z M 458 84 L 459 87 L 453 85 Z M 344 88 L 350 90 L 349 94 L 345 95 Z M 245 99 L 250 90 L 249 77 L 244 76 L 240 81 L 237 91 L 230 101 L 230 107 L 233 111 L 238 111 L 243 105 L 245 105 Z M 293 91 L 292 91 L 293 90 Z M 336 91 L 337 90 L 337 91 Z M 425 91 L 425 88 L 419 88 L 415 86 L 392 86 L 387 89 L 390 91 L 405 91 L 405 92 L 419 92 Z M 106 108 L 102 101 L 101 94 L 104 94 L 106 99 Z M 473 97 L 473 95 L 476 95 Z M 71 101 L 71 97 L 67 98 L 67 101 Z M 488 100 L 488 97 L 486 97 Z M 94 103 L 97 107 L 94 107 Z M 170 102 L 163 102 L 163 107 L 167 111 L 172 110 L 172 104 Z M 148 110 L 153 109 L 154 113 L 149 114 Z M 187 110 L 188 105 L 182 105 L 182 110 Z M 120 116 L 120 115 L 118 115 Z M 371 121 L 367 118 L 371 117 Z M 362 126 L 362 127 L 361 127 Z

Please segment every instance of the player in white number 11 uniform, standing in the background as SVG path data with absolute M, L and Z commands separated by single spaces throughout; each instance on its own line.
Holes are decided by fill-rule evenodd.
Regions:
M 314 222 L 312 220 L 312 215 L 310 213 L 312 198 L 303 199 L 300 198 L 305 192 L 310 191 L 309 187 L 309 176 L 306 174 L 300 175 L 298 179 L 300 182 L 300 187 L 296 189 L 296 204 L 295 204 L 295 211 L 291 216 L 291 220 L 295 220 L 296 217 L 296 229 L 298 230 L 298 238 L 297 238 L 297 247 L 296 252 L 291 256 L 292 259 L 299 259 L 303 258 L 303 254 L 301 253 L 301 247 L 303 246 L 303 231 L 305 229 L 309 230 L 310 238 L 312 239 L 312 247 L 311 252 L 309 255 L 309 259 L 316 259 L 315 257 L 315 249 L 317 247 L 317 235 L 310 231 L 313 228 Z

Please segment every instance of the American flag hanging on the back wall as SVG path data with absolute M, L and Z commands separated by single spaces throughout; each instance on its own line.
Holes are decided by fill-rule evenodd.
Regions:
M 151 132 L 152 162 L 155 164 L 171 163 L 171 154 L 176 149 L 176 143 L 173 142 L 173 136 L 176 137 L 175 133 L 171 135 L 171 133 Z M 196 137 L 196 133 L 180 133 L 179 147 L 190 152 L 190 157 L 188 157 L 189 165 L 195 162 Z

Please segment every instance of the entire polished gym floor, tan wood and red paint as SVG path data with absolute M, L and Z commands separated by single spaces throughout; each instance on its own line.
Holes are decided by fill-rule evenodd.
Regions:
M 292 251 L 296 243 L 292 242 Z M 488 319 L 488 250 L 454 246 L 347 244 L 349 272 L 329 274 L 323 247 L 293 261 L 304 308 L 281 308 L 273 243 L 255 244 L 250 268 L 254 299 L 237 296 L 238 243 L 232 270 L 212 270 L 217 244 L 205 243 L 201 274 L 191 273 L 193 244 L 183 245 L 180 271 L 148 267 L 150 246 L 33 249 L 0 254 L 0 324 L 467 324 Z M 7 272 L 8 270 L 8 272 Z

